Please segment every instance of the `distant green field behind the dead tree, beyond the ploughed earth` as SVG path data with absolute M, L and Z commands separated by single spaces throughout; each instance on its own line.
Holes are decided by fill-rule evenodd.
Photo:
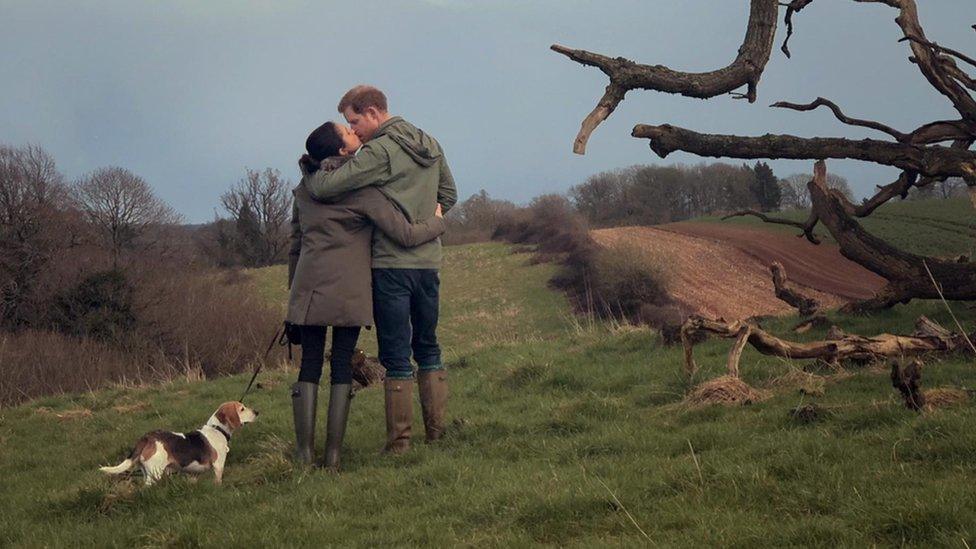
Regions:
M 772 215 L 805 221 L 809 213 L 809 210 L 790 210 Z M 720 217 L 712 216 L 694 221 L 761 227 L 791 234 L 799 232 L 785 225 L 763 223 L 755 217 L 722 221 Z M 859 222 L 871 234 L 908 252 L 931 256 L 976 256 L 976 212 L 964 198 L 889 202 Z M 826 242 L 834 241 L 823 226 L 815 232 Z

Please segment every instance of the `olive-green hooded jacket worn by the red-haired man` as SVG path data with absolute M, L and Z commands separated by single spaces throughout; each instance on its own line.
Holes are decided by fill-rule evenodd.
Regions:
M 334 171 L 319 170 L 303 178 L 319 200 L 376 185 L 403 210 L 410 222 L 434 215 L 437 203 L 447 213 L 457 202 L 454 177 L 437 141 L 413 124 L 394 116 L 351 160 Z M 441 242 L 404 248 L 382 231 L 373 232 L 374 269 L 438 269 Z

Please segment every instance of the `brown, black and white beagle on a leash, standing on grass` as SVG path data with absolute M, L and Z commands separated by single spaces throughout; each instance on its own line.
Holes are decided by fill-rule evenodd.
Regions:
M 240 402 L 225 402 L 207 423 L 192 433 L 152 431 L 136 442 L 125 461 L 115 467 L 100 467 L 109 475 L 120 475 L 142 467 L 146 486 L 151 486 L 167 471 L 202 473 L 213 468 L 214 482 L 220 484 L 224 462 L 230 452 L 230 436 L 245 423 L 257 419 L 258 413 Z

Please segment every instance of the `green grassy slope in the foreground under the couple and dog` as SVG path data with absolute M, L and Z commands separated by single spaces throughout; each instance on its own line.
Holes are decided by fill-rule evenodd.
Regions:
M 919 416 L 883 373 L 859 370 L 820 397 L 780 389 L 747 407 L 690 409 L 680 350 L 646 330 L 580 326 L 546 288 L 551 267 L 526 260 L 495 244 L 448 250 L 441 334 L 454 424 L 442 443 L 378 456 L 382 394 L 371 389 L 354 401 L 345 472 L 296 468 L 286 458 L 294 372 L 272 372 L 250 398 L 262 413 L 235 438 L 222 487 L 173 477 L 142 490 L 95 468 L 145 430 L 194 428 L 246 376 L 43 399 L 0 411 L 0 546 L 647 543 L 635 522 L 658 545 L 976 541 L 976 408 Z M 282 295 L 281 273 L 265 274 L 269 295 Z M 976 315 L 960 312 L 972 326 Z M 950 325 L 931 303 L 837 322 L 908 330 L 919 313 Z M 728 346 L 698 348 L 703 378 L 720 373 Z M 743 357 L 756 386 L 788 368 Z M 971 362 L 951 359 L 924 383 L 974 379 Z M 811 401 L 831 415 L 793 422 L 788 411 Z

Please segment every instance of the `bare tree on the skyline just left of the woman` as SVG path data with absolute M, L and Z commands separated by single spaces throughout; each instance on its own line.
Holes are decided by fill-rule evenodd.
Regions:
M 288 245 L 291 200 L 291 182 L 271 168 L 246 169 L 245 176 L 220 197 L 220 203 L 238 225 L 250 227 L 252 216 L 256 221 L 257 234 L 244 235 L 249 240 L 247 248 L 256 254 L 252 260 L 255 264 L 269 265 L 282 258 Z M 258 242 L 250 242 L 254 239 Z

